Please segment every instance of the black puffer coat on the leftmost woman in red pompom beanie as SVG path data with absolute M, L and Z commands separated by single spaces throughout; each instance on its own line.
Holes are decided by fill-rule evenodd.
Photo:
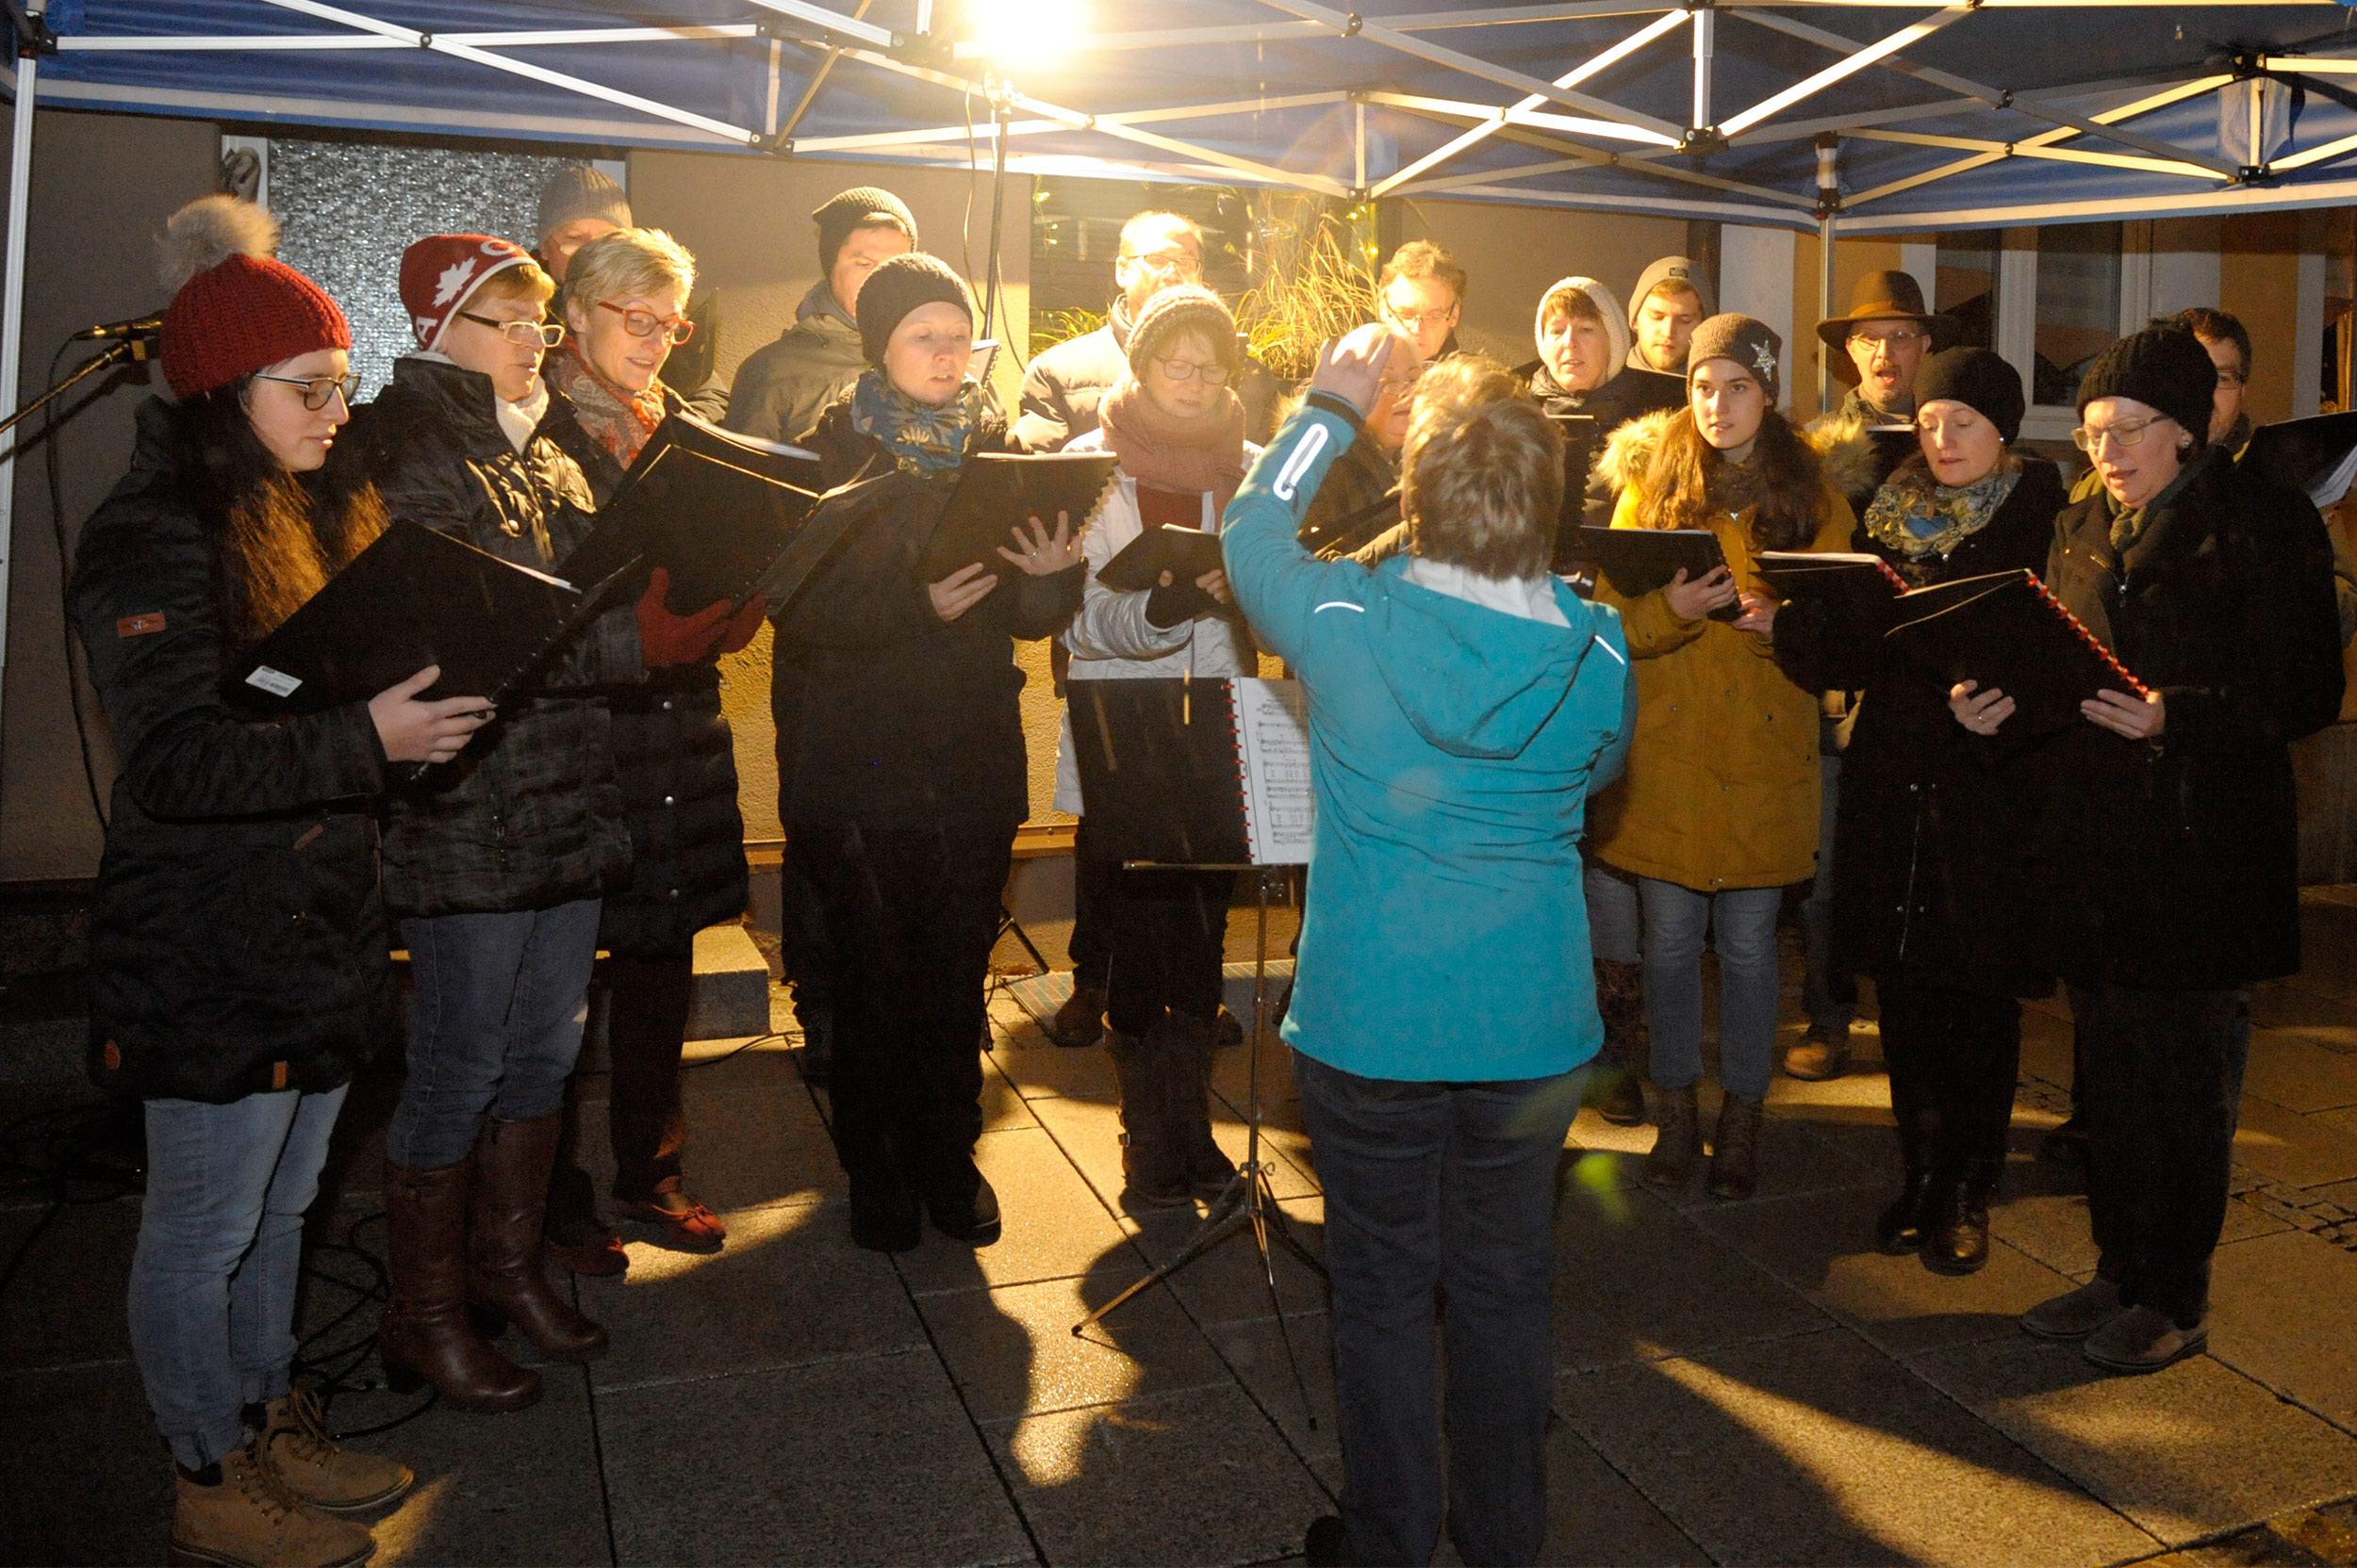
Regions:
M 90 1074 L 125 1095 L 229 1104 L 330 1090 L 391 1036 L 368 704 L 243 720 L 214 542 L 179 490 L 170 412 L 82 525 L 71 603 L 115 753 L 90 918 Z

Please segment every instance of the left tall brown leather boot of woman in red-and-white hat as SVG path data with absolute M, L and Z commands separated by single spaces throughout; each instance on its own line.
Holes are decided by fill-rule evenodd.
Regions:
M 377 1354 L 396 1394 L 431 1382 L 460 1410 L 521 1410 L 540 1398 L 540 1373 L 483 1344 L 467 1321 L 469 1161 L 438 1170 L 384 1165 L 391 1302 Z

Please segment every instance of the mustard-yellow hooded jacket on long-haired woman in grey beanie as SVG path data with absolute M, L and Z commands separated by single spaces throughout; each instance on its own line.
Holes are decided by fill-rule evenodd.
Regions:
M 1619 492 L 1612 527 L 1645 527 L 1645 471 L 1678 412 L 1624 424 L 1605 443 L 1603 473 Z M 1841 499 L 1864 443 L 1820 447 L 1824 497 L 1803 549 L 1843 551 L 1855 518 Z M 1751 509 L 1711 520 L 1739 589 L 1751 570 Z M 1629 777 L 1596 803 L 1596 857 L 1633 876 L 1697 892 L 1784 888 L 1817 864 L 1817 692 L 1777 669 L 1775 647 L 1725 622 L 1688 622 L 1662 589 L 1622 598 L 1636 659 L 1638 720 Z

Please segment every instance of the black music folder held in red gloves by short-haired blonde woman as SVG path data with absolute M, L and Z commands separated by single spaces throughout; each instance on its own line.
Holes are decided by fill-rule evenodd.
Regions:
M 669 414 L 556 570 L 568 582 L 603 582 L 622 567 L 662 567 L 672 614 L 735 605 L 752 598 L 816 504 L 813 452 Z

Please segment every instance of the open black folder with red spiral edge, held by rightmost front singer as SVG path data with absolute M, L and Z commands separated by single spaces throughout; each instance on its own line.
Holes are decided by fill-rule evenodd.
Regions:
M 2093 631 L 2058 600 L 2036 572 L 1989 572 L 1916 589 L 1900 600 L 1886 633 L 1900 652 L 1945 685 L 1978 680 L 2013 697 L 2015 718 L 2034 732 L 2079 723 L 2095 692 L 2150 687 L 2112 657 Z

